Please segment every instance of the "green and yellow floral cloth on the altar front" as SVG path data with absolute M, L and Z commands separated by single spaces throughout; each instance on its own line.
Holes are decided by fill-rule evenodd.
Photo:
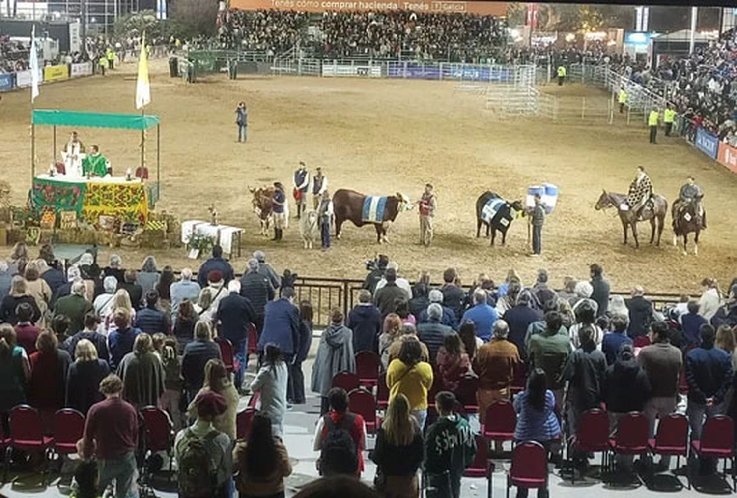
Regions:
M 77 212 L 77 220 L 99 225 L 101 215 L 113 216 L 122 223 L 148 221 L 148 194 L 140 179 L 122 177 L 95 179 L 40 175 L 33 179 L 29 207 L 36 219 L 44 212 Z

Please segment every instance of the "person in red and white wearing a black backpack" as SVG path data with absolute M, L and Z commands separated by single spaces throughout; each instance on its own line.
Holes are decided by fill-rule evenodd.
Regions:
M 320 452 L 318 471 L 322 476 L 338 474 L 360 477 L 363 472 L 363 449 L 366 448 L 366 423 L 363 417 L 348 411 L 348 393 L 333 387 L 327 395 L 330 411 L 315 427 L 315 446 Z

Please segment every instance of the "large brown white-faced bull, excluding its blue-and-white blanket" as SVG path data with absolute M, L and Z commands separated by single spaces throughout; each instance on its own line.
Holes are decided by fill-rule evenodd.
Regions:
M 388 224 L 397 218 L 400 211 L 410 210 L 412 207 L 409 198 L 404 194 L 397 193 L 394 196 L 388 196 L 383 223 L 374 223 L 363 221 L 363 201 L 365 199 L 365 195 L 357 193 L 355 190 L 335 190 L 332 196 L 333 209 L 335 210 L 335 238 L 340 238 L 340 226 L 343 221 L 352 221 L 355 226 L 374 225 L 377 242 L 388 242 L 389 240 L 386 238 Z

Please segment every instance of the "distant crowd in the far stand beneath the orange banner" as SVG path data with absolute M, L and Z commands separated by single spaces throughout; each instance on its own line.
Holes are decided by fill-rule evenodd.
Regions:
M 500 59 L 506 23 L 491 15 L 387 12 L 324 13 L 310 32 L 307 13 L 226 10 L 218 18 L 222 48 L 277 54 L 301 44 L 329 58 L 408 55 L 425 60 Z

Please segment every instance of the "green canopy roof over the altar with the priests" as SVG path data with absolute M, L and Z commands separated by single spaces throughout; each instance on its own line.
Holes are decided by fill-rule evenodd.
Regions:
M 116 114 L 38 109 L 33 111 L 32 123 L 34 125 L 71 126 L 79 128 L 145 130 L 158 125 L 159 119 L 158 116 L 150 114 Z

